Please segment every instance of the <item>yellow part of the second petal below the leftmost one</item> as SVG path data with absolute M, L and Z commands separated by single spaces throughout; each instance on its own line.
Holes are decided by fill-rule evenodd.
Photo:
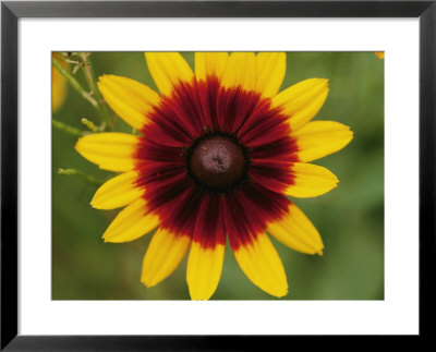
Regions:
M 159 223 L 159 217 L 148 213 L 146 202 L 138 198 L 117 215 L 102 238 L 105 242 L 129 242 L 150 232 Z

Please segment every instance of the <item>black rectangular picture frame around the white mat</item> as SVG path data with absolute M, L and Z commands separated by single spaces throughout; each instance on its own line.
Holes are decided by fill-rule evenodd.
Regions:
M 268 350 L 266 336 L 22 336 L 17 332 L 17 21 L 21 17 L 419 17 L 420 337 L 433 333 L 435 303 L 436 1 L 89 1 L 1 3 L 1 350 Z M 386 180 L 389 182 L 389 180 Z M 404 283 L 407 284 L 407 283 Z M 41 317 L 44 318 L 44 317 Z M 311 344 L 317 343 L 311 340 Z

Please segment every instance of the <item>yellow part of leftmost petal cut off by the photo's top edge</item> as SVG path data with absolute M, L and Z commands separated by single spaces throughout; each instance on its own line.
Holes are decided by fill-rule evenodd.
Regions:
M 145 52 L 145 60 L 161 95 L 170 95 L 173 86 L 194 78 L 190 65 L 179 52 Z

